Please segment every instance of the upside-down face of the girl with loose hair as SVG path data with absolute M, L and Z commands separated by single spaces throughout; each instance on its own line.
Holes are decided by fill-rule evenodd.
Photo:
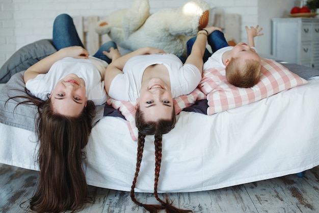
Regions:
M 50 99 L 56 113 L 78 116 L 87 102 L 85 81 L 75 74 L 65 76 L 52 90 Z

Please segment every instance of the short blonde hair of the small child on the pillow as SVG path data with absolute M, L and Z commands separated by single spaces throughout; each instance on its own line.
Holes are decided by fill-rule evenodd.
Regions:
M 259 81 L 260 68 L 260 61 L 247 59 L 243 64 L 240 58 L 231 58 L 226 66 L 226 79 L 234 86 L 249 88 Z

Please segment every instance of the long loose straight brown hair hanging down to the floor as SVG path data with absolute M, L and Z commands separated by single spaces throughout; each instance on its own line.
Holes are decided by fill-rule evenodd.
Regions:
M 30 209 L 36 212 L 61 212 L 81 209 L 88 198 L 83 161 L 95 115 L 92 101 L 87 102 L 78 117 L 55 113 L 51 101 L 29 96 L 19 104 L 34 104 L 38 108 L 36 134 L 39 141 L 39 180 L 30 199 Z M 19 105 L 18 104 L 18 105 Z

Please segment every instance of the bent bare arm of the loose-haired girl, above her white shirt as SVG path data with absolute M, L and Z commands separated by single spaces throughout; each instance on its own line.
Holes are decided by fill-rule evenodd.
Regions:
M 24 83 L 26 83 L 30 79 L 34 79 L 39 74 L 47 73 L 51 68 L 52 64 L 65 57 L 88 58 L 89 53 L 81 46 L 70 46 L 68 48 L 63 48 L 57 51 L 56 53 L 45 57 L 44 59 L 38 61 L 37 63 L 26 69 L 23 76 Z

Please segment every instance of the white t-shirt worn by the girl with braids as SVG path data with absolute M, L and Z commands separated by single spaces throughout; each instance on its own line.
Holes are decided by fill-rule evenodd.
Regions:
M 123 74 L 113 79 L 109 96 L 121 101 L 136 101 L 140 96 L 145 69 L 153 64 L 164 64 L 168 69 L 173 98 L 191 93 L 202 76 L 193 64 L 184 64 L 173 54 L 139 55 L 130 58 L 123 67 Z

